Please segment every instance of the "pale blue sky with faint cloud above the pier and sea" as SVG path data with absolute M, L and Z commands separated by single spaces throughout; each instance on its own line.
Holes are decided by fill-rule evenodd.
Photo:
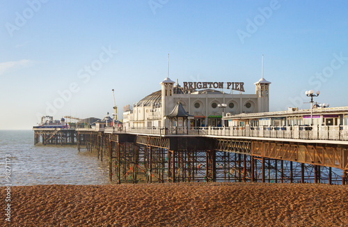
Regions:
M 270 111 L 348 106 L 347 1 L 0 1 L 0 130 L 102 118 L 182 81 L 271 81 Z M 226 91 L 230 92 L 230 91 Z

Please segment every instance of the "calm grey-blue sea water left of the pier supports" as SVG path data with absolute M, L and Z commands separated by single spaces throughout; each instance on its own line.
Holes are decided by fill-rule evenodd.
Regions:
M 16 185 L 107 185 L 108 162 L 77 146 L 34 146 L 31 130 L 0 130 L 0 186 L 5 185 L 5 158 Z

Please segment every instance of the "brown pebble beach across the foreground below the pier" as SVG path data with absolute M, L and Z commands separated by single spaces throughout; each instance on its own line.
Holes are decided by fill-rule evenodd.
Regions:
M 1 209 L 0 226 L 348 226 L 347 185 L 35 185 L 10 193 L 10 223 Z

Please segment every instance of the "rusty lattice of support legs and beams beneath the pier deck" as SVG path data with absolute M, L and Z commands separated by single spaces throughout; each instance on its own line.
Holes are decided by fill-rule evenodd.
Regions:
M 173 145 L 173 141 L 156 136 L 134 136 L 133 139 L 122 140 L 118 136 L 100 132 L 77 136 L 78 150 L 84 144 L 87 150 L 97 149 L 97 157 L 101 161 L 109 156 L 109 180 L 117 183 L 228 181 L 347 184 L 347 171 L 340 175 L 331 166 L 319 165 L 317 159 L 321 154 L 309 164 L 308 159 L 313 159 L 313 156 L 296 156 L 299 155 L 296 146 L 287 147 L 286 151 L 280 146 L 280 150 L 267 150 L 267 143 L 262 143 L 262 146 L 258 143 L 259 147 L 253 154 L 248 146 L 251 143 L 246 141 L 226 143 L 229 151 L 223 151 L 216 150 L 217 146 L 210 146 L 207 150 L 202 149 L 205 146 L 199 148 L 196 145 L 199 143 L 190 139 L 173 139 Z M 311 153 L 308 151 L 306 154 Z M 271 158 L 272 155 L 278 158 Z M 334 165 L 331 159 L 322 162 Z

